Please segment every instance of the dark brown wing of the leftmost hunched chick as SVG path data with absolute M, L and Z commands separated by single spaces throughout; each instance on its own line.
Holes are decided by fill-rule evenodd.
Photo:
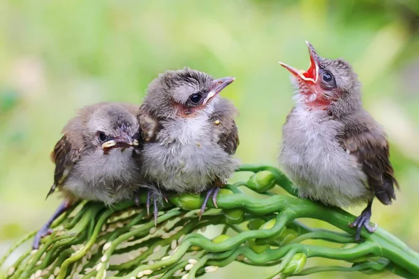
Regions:
M 47 197 L 54 193 L 54 190 L 66 180 L 71 169 L 80 158 L 81 149 L 80 144 L 68 140 L 68 135 L 61 137 L 55 144 L 54 151 L 51 153 L 52 162 L 55 163 L 54 184 Z

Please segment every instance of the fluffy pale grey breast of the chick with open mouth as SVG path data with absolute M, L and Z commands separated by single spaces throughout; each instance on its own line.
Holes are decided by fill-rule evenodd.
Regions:
M 322 112 L 288 116 L 279 163 L 302 196 L 348 206 L 369 195 L 365 174 L 337 140 L 342 125 Z

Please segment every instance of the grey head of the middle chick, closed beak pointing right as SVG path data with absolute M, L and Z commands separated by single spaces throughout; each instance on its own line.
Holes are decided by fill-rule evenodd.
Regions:
M 211 114 L 219 93 L 234 80 L 214 80 L 207 73 L 190 68 L 168 70 L 149 84 L 144 104 L 163 119 Z

